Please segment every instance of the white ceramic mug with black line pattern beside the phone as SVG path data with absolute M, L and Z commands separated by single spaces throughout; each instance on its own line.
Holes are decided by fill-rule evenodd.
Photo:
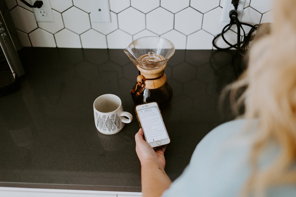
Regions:
M 113 94 L 101 95 L 94 100 L 94 122 L 99 132 L 114 134 L 121 131 L 125 123 L 133 120 L 131 113 L 123 111 L 120 98 Z

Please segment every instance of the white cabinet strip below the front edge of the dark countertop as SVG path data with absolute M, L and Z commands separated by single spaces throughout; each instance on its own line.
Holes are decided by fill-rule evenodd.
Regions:
M 1 197 L 141 197 L 141 192 L 58 190 L 0 187 Z

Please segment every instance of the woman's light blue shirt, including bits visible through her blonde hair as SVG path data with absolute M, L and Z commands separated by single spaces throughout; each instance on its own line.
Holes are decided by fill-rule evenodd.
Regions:
M 169 196 L 232 197 L 239 196 L 250 175 L 249 154 L 254 141 L 257 121 L 238 119 L 223 123 L 210 131 L 195 148 L 190 163 L 163 193 Z M 246 132 L 247 131 L 247 132 Z M 279 153 L 270 142 L 259 161 L 260 168 L 268 165 Z M 296 196 L 296 185 L 268 190 L 267 196 Z

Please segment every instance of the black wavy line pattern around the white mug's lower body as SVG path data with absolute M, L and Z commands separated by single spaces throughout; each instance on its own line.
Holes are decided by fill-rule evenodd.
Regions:
M 102 131 L 115 131 L 120 128 L 120 116 L 112 114 L 110 117 L 106 115 L 98 115 L 96 113 L 96 126 Z

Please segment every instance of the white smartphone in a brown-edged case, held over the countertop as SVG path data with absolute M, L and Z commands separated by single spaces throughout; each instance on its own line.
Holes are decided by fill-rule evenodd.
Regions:
M 135 112 L 139 125 L 144 131 L 144 140 L 153 149 L 170 144 L 170 136 L 163 122 L 157 102 L 136 105 Z

